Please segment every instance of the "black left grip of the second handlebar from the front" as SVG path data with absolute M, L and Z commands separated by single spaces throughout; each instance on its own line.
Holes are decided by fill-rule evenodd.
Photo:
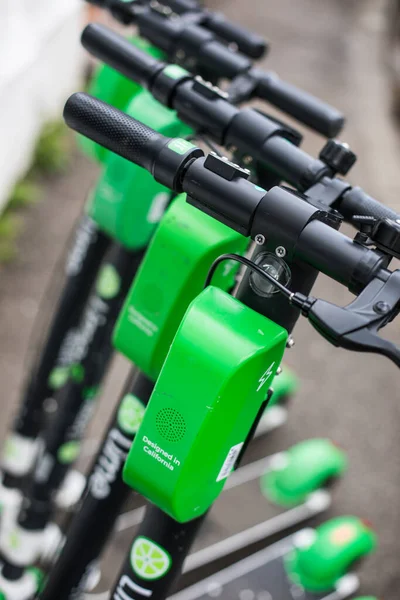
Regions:
M 163 65 L 104 25 L 87 25 L 81 41 L 90 54 L 143 87 L 148 87 Z

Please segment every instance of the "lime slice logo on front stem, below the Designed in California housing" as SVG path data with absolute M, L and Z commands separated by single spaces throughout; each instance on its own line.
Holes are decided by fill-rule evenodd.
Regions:
M 163 577 L 171 568 L 172 559 L 164 548 L 146 537 L 139 536 L 132 546 L 132 569 L 142 579 Z

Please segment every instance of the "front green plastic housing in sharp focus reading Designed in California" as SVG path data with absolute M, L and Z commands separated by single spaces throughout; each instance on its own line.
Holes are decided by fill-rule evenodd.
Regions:
M 260 413 L 286 340 L 279 325 L 206 288 L 177 331 L 125 482 L 179 522 L 206 512 Z

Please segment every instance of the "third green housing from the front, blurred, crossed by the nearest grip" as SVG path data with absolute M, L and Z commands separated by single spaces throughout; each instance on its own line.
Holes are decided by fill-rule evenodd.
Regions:
M 168 137 L 189 135 L 176 113 L 146 90 L 137 94 L 126 112 Z M 87 212 L 106 234 L 128 250 L 145 248 L 171 198 L 171 191 L 133 163 L 109 153 Z

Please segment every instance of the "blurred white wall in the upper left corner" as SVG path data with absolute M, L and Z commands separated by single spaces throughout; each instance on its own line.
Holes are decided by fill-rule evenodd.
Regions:
M 0 0 L 0 211 L 42 125 L 78 90 L 82 0 Z

